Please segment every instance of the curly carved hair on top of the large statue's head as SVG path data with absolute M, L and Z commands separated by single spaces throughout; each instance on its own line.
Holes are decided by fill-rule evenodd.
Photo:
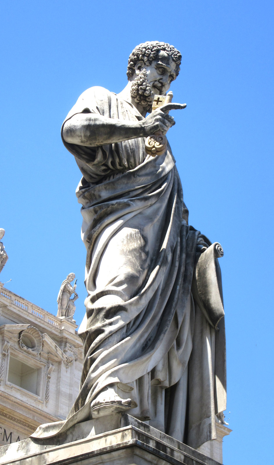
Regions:
M 138 45 L 134 48 L 132 53 L 129 55 L 128 65 L 127 65 L 127 79 L 130 78 L 135 73 L 135 66 L 138 61 L 143 61 L 145 65 L 150 66 L 151 61 L 157 58 L 160 50 L 166 52 L 169 56 L 172 57 L 172 60 L 176 63 L 176 77 L 180 71 L 180 64 L 182 55 L 179 50 L 177 50 L 173 45 L 166 44 L 165 42 L 145 42 Z

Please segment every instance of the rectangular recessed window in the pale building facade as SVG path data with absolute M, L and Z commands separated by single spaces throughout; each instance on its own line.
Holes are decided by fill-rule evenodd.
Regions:
M 10 357 L 7 377 L 9 383 L 39 396 L 40 379 L 41 369 Z

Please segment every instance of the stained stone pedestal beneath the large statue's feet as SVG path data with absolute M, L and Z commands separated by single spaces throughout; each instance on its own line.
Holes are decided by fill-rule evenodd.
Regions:
M 47 464 L 219 465 L 125 413 L 74 425 L 52 439 L 29 438 L 0 447 L 0 465 Z

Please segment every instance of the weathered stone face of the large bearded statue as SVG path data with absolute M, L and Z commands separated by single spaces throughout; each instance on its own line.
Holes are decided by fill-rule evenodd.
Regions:
M 161 51 L 159 57 L 145 66 L 147 70 L 147 81 L 154 93 L 165 95 L 171 82 L 176 79 L 176 63 L 172 57 Z

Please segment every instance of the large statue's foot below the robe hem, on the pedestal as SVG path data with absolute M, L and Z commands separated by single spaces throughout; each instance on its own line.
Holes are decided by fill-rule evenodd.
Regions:
M 104 417 L 116 412 L 126 412 L 136 407 L 131 399 L 121 399 L 112 387 L 100 394 L 91 403 L 92 418 Z

